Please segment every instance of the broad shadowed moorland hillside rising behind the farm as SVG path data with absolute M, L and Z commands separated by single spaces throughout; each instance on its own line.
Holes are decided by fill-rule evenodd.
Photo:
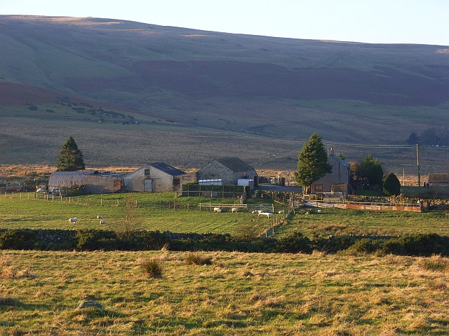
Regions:
M 133 130 L 134 141 L 154 132 L 160 140 L 164 127 L 181 134 L 163 151 L 141 141 L 140 154 L 123 154 L 131 157 L 126 160 L 107 148 L 110 141 L 97 141 L 102 158 L 93 159 L 95 152 L 89 152 L 88 159 L 96 165 L 163 160 L 163 153 L 170 153 L 173 164 L 201 165 L 217 152 L 260 162 L 267 153 L 295 150 L 311 132 L 326 141 L 404 144 L 411 132 L 449 126 L 445 46 L 311 41 L 110 19 L 11 15 L 0 15 L 0 44 L 0 146 L 11 151 L 4 163 L 26 163 L 33 155 L 52 162 L 68 135 L 88 145 L 91 138 L 85 137 L 98 133 L 100 139 L 114 138 L 123 151 L 136 150 L 135 143 L 123 144 L 129 132 L 121 123 L 102 120 L 105 125 L 97 130 L 93 122 L 102 116 L 85 118 L 76 111 L 83 118 L 65 118 L 73 113 L 67 107 L 81 105 L 147 123 Z M 61 104 L 65 107 L 60 109 Z M 30 114 L 29 106 L 37 110 Z M 44 116 L 47 110 L 54 111 L 51 118 Z M 47 120 L 42 123 L 54 134 L 51 139 L 20 132 L 37 120 Z M 217 146 L 206 146 L 213 144 L 216 132 Z M 186 133 L 195 139 L 186 142 Z M 31 139 L 32 152 L 24 148 Z M 246 148 L 236 149 L 243 144 Z M 191 151 L 189 158 L 182 158 L 186 151 Z M 192 158 L 196 152 L 199 158 Z M 358 159 L 366 153 L 347 154 Z M 397 158 L 389 153 L 385 162 L 388 155 Z M 279 164 L 290 168 L 294 161 L 295 154 Z

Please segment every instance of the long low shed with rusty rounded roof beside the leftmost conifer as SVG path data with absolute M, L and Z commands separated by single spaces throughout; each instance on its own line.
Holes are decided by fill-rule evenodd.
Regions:
M 79 170 L 74 172 L 53 172 L 48 188 L 84 187 L 88 194 L 116 193 L 123 190 L 123 176 L 101 173 L 97 170 Z

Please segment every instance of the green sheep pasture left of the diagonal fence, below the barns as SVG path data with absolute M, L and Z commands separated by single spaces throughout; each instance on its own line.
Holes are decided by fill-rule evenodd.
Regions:
M 94 228 L 115 230 L 123 225 L 126 217 L 126 202 L 130 200 L 129 214 L 136 230 L 160 230 L 171 232 L 234 233 L 241 225 L 251 223 L 263 231 L 272 223 L 267 217 L 252 214 L 199 211 L 198 204 L 236 203 L 236 200 L 221 200 L 198 197 L 176 198 L 175 193 L 107 194 L 51 200 L 34 200 L 34 193 L 3 195 L 0 197 L 0 228 L 47 228 L 79 229 Z M 29 198 L 28 198 L 29 197 Z M 137 206 L 135 205 L 137 202 Z M 261 200 L 262 202 L 262 200 Z M 263 200 L 264 203 L 267 200 Z M 102 204 L 102 205 L 101 205 Z M 107 225 L 100 225 L 97 216 L 102 215 Z M 69 223 L 70 217 L 79 218 Z

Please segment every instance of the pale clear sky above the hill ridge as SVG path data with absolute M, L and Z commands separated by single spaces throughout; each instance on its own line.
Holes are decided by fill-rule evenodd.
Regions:
M 449 45 L 449 0 L 0 0 L 0 14 L 111 18 L 286 38 Z

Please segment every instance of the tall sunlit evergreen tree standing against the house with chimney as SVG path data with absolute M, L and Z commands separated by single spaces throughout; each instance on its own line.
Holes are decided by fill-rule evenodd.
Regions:
M 297 155 L 297 183 L 302 186 L 304 194 L 308 194 L 312 183 L 331 172 L 332 166 L 328 162 L 323 139 L 318 133 L 311 134 Z

